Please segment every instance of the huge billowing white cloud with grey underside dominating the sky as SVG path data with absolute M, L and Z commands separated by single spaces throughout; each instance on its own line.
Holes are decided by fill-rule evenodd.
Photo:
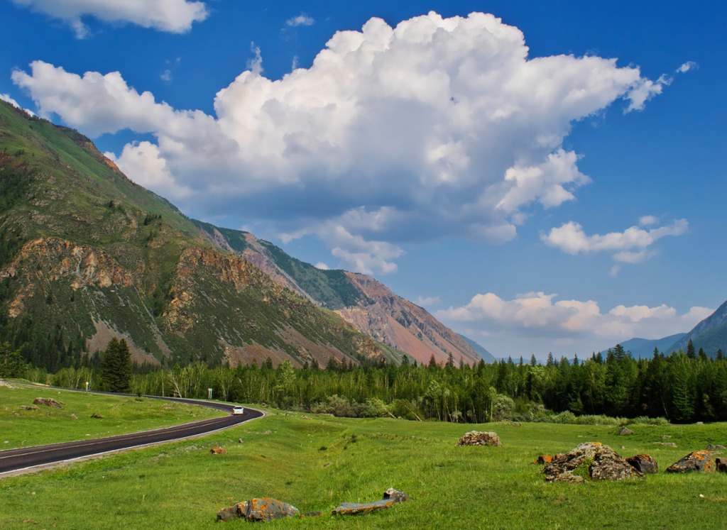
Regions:
M 395 28 L 373 18 L 278 80 L 262 75 L 253 46 L 249 70 L 217 92 L 216 116 L 173 109 L 118 72 L 36 61 L 12 79 L 45 116 L 86 134 L 153 134 L 159 182 L 180 189 L 165 193 L 195 191 L 179 204 L 186 212 L 239 224 L 244 211 L 269 231 L 324 238 L 360 270 L 392 271 L 406 242 L 509 241 L 534 209 L 573 200 L 588 178 L 563 148 L 571 123 L 622 98 L 643 108 L 664 84 L 615 59 L 528 52 L 523 33 L 492 15 L 430 12 Z M 125 159 L 141 147 L 119 156 L 140 181 Z

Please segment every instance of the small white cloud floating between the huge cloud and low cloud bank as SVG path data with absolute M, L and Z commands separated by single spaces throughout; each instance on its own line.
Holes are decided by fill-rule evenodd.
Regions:
M 653 216 L 645 216 L 640 219 L 642 225 L 653 224 L 654 222 L 656 222 L 656 219 Z M 686 232 L 688 226 L 689 223 L 686 219 L 678 219 L 672 222 L 671 225 L 649 230 L 632 226 L 623 232 L 587 236 L 581 225 L 569 221 L 559 228 L 552 228 L 549 233 L 542 235 L 541 238 L 546 244 L 555 246 L 567 254 L 614 252 L 614 260 L 618 262 L 639 263 L 654 254 L 654 252 L 648 250 L 649 246 L 664 236 L 682 235 Z

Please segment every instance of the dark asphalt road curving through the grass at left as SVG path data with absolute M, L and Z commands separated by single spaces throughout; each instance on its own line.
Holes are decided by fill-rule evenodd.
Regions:
M 247 407 L 245 407 L 245 414 L 233 416 L 233 406 L 226 405 L 225 403 L 180 398 L 159 399 L 209 406 L 212 409 L 228 411 L 230 412 L 230 415 L 220 418 L 203 419 L 198 422 L 185 423 L 183 425 L 174 425 L 173 427 L 146 430 L 142 433 L 124 434 L 109 436 L 107 438 L 94 438 L 91 440 L 79 440 L 65 443 L 52 443 L 47 446 L 5 449 L 4 451 L 0 451 L 0 476 L 3 475 L 3 473 L 25 470 L 29 467 L 37 467 L 57 462 L 64 462 L 65 460 L 91 457 L 111 451 L 119 451 L 120 449 L 145 446 L 150 443 L 180 440 L 182 438 L 189 438 L 190 436 L 214 433 L 217 430 L 233 427 L 234 425 L 246 422 L 249 419 L 264 416 L 261 411 L 248 409 Z

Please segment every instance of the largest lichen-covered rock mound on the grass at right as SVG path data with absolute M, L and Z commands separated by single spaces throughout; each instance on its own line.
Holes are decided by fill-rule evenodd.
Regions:
M 601 442 L 581 443 L 566 454 L 558 454 L 543 468 L 546 482 L 579 483 L 643 478 L 616 451 Z

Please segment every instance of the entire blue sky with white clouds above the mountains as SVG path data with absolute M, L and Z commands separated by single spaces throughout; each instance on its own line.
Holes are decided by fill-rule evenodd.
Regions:
M 0 0 L 0 19 L 0 97 L 496 356 L 687 332 L 727 299 L 723 3 Z

